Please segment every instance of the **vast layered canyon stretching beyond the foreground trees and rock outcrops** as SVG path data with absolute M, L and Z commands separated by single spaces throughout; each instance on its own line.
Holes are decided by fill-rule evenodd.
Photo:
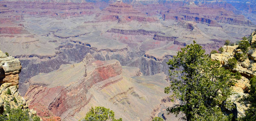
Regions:
M 255 29 L 255 0 L 0 1 L 0 50 L 22 66 L 12 86 L 43 121 L 78 121 L 92 106 L 178 121 L 166 111 L 178 103 L 164 93 L 169 59 L 193 40 L 209 54 Z

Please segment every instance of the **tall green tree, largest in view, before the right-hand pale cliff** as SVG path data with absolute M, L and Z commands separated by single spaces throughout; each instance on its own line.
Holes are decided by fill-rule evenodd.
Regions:
M 176 116 L 184 113 L 187 121 L 227 121 L 228 117 L 221 108 L 232 109 L 227 100 L 235 83 L 235 74 L 221 67 L 219 61 L 212 61 L 199 44 L 181 48 L 167 63 L 170 65 L 170 85 L 165 93 L 172 90 L 172 101 L 180 104 L 166 110 Z

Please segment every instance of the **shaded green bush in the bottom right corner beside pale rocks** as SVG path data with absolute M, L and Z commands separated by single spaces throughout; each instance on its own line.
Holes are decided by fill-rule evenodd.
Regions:
M 256 121 L 256 77 L 250 79 L 250 92 L 249 96 L 244 97 L 245 104 L 250 104 L 249 108 L 245 111 L 245 117 L 241 121 Z

